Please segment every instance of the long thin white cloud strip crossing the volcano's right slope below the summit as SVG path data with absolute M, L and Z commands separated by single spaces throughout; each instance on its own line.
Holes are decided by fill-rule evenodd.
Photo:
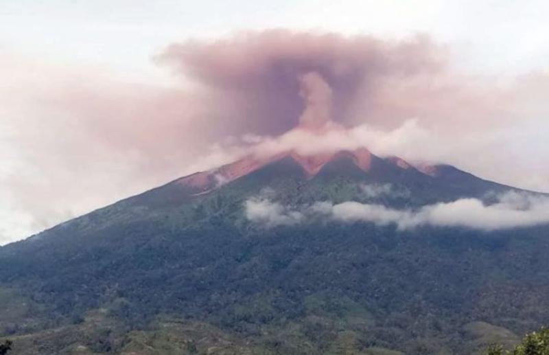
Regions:
M 494 202 L 461 198 L 419 209 L 393 209 L 384 205 L 347 201 L 317 202 L 301 208 L 285 207 L 267 198 L 246 201 L 246 218 L 266 227 L 296 225 L 323 217 L 338 222 L 395 225 L 404 231 L 417 227 L 465 227 L 483 231 L 530 227 L 549 223 L 549 198 L 518 192 L 493 196 Z

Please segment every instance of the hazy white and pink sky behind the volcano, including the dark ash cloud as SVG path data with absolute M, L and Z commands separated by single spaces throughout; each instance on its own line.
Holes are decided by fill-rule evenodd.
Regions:
M 549 192 L 548 16 L 547 1 L 1 1 L 0 244 L 271 144 L 305 115 L 303 76 L 375 153 Z

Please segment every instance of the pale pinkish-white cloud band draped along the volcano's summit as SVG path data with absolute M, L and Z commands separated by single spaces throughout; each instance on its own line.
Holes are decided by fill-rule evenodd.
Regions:
M 495 134 L 483 131 L 483 138 L 479 139 L 480 134 L 456 137 L 421 126 L 417 119 L 408 119 L 388 130 L 370 124 L 345 129 L 334 122 L 328 122 L 323 130 L 296 128 L 278 137 L 243 135 L 240 139 L 231 139 L 226 144 L 214 146 L 207 160 L 211 157 L 212 161 L 229 162 L 250 152 L 259 157 L 269 157 L 290 150 L 302 155 L 314 155 L 367 147 L 381 157 L 397 156 L 411 162 L 463 162 L 467 165 L 471 159 L 465 159 L 468 155 L 466 153 L 495 145 Z

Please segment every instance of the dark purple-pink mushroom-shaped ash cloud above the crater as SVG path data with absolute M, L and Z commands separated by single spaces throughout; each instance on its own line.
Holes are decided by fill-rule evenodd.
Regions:
M 426 36 L 382 41 L 269 30 L 174 44 L 157 60 L 217 98 L 231 128 L 245 124 L 254 133 L 277 135 L 297 126 L 299 117 L 321 121 L 329 112 L 340 123 L 360 122 L 358 96 L 361 102 L 374 98 L 386 78 L 437 75 L 445 67 L 444 56 Z M 371 106 L 369 111 L 377 104 Z M 315 115 L 304 113 L 306 107 Z

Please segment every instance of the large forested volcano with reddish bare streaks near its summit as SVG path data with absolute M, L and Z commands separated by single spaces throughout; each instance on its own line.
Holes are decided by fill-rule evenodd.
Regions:
M 547 225 L 391 219 L 510 192 L 545 197 L 365 148 L 250 155 L 1 247 L 0 338 L 14 354 L 473 354 L 511 344 L 549 320 Z M 325 212 L 349 203 L 382 219 Z

